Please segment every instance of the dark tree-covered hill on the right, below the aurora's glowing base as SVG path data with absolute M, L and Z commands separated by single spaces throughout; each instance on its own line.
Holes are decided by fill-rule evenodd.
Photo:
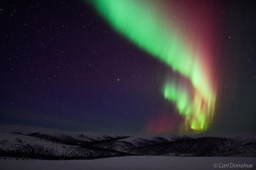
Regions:
M 199 137 L 126 150 L 139 155 L 256 157 L 256 142 L 225 137 Z

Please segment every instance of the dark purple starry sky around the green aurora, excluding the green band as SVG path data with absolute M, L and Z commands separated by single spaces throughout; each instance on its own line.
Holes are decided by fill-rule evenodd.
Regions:
M 184 39 L 194 30 L 201 43 L 210 44 L 217 91 L 205 133 L 256 131 L 255 5 L 164 0 L 150 5 L 164 9 Z M 182 76 L 118 33 L 91 1 L 3 1 L 0 16 L 0 124 L 180 133 L 184 117 L 162 88 L 170 75 Z

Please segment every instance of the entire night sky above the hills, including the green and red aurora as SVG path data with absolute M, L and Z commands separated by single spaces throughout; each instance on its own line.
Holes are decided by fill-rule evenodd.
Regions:
M 0 5 L 0 124 L 256 131 L 256 10 L 249 1 Z

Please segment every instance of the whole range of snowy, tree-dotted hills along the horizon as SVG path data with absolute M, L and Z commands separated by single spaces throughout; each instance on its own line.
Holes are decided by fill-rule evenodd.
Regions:
M 253 134 L 227 137 L 166 133 L 127 136 L 3 125 L 0 126 L 0 156 L 38 159 L 94 159 L 131 155 L 256 157 Z

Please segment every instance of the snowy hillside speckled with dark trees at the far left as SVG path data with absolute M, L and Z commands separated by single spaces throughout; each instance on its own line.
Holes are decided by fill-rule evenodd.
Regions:
M 67 155 L 89 157 L 93 152 L 90 149 L 81 149 L 75 145 L 67 145 L 33 136 L 6 132 L 0 132 L 0 136 L 0 149 L 3 152 L 12 151 L 15 157 L 47 158 L 45 153 L 51 153 L 51 157 L 65 157 Z M 75 154 L 73 154 L 73 151 L 75 151 Z

